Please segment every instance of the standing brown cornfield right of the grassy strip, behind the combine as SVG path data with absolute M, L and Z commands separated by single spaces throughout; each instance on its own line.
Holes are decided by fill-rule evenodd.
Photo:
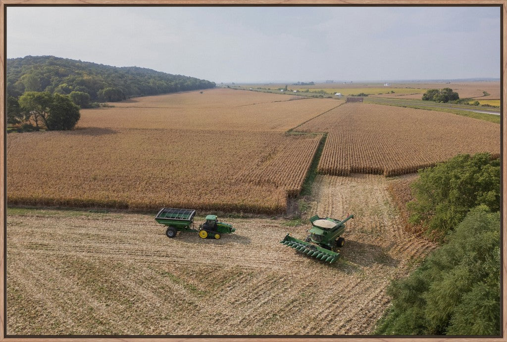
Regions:
M 500 153 L 500 126 L 450 113 L 375 104 L 344 104 L 297 127 L 329 132 L 318 172 L 385 176 L 459 153 Z

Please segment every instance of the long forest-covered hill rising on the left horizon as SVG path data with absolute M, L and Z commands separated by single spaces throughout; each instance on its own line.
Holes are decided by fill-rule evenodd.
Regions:
M 215 87 L 214 82 L 139 67 L 114 67 L 54 56 L 7 59 L 7 93 L 25 91 L 69 94 L 84 92 L 92 101 L 121 101 L 128 97 Z

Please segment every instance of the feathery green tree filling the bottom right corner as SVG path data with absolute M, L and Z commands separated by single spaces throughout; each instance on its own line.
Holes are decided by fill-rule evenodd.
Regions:
M 499 212 L 473 208 L 447 240 L 408 278 L 388 287 L 392 306 L 376 334 L 500 333 Z

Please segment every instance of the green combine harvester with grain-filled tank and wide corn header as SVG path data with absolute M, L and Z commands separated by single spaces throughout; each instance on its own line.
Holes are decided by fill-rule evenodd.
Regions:
M 345 222 L 353 218 L 353 215 L 349 215 L 345 220 L 340 221 L 331 218 L 322 219 L 315 215 L 310 218 L 313 227 L 307 231 L 310 235 L 304 241 L 287 233 L 280 243 L 295 248 L 310 257 L 333 264 L 340 258 L 339 248 L 345 242 L 345 239 L 340 237 L 345 230 Z

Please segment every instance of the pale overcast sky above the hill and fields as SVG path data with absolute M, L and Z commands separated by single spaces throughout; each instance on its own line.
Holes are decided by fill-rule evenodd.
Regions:
M 215 82 L 500 76 L 499 7 L 8 7 L 7 57 Z

